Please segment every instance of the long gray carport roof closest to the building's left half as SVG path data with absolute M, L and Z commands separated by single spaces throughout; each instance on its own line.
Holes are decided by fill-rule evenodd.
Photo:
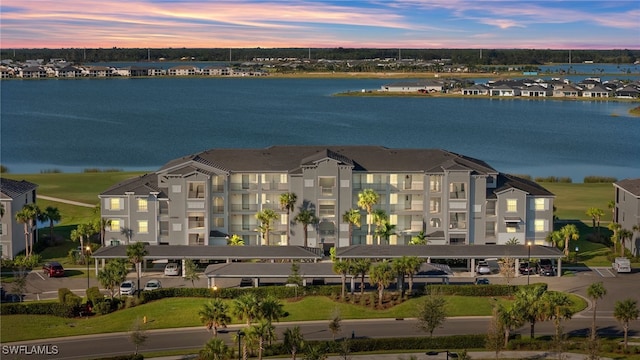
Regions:
M 314 250 L 302 246 L 188 246 L 188 245 L 147 245 L 145 259 L 209 259 L 209 260 L 249 260 L 249 259 L 300 259 L 318 260 Z M 127 257 L 127 246 L 107 246 L 93 253 L 96 259 L 117 259 Z

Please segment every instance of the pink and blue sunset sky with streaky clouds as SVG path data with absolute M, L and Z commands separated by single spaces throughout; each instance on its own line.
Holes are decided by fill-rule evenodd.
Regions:
M 640 0 L 2 0 L 0 47 L 640 49 Z

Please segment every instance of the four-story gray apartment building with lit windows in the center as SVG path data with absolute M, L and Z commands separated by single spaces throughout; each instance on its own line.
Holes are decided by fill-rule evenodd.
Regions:
M 269 245 L 303 245 L 293 219 L 308 209 L 308 246 L 387 244 L 368 236 L 368 214 L 349 237 L 343 214 L 358 209 L 358 194 L 372 189 L 395 226 L 388 244 L 408 244 L 424 232 L 429 244 L 550 245 L 554 195 L 534 182 L 503 174 L 482 160 L 440 149 L 382 146 L 272 146 L 211 149 L 171 160 L 159 170 L 100 194 L 108 244 L 224 245 L 240 236 L 265 245 L 256 213 L 278 214 Z M 294 193 L 295 210 L 280 205 Z

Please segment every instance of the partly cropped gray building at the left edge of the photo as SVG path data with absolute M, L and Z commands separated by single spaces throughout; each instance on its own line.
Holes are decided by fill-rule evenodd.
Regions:
M 37 187 L 25 180 L 0 178 L 0 257 L 3 259 L 13 259 L 25 250 L 24 225 L 18 224 L 16 214 L 25 205 L 36 202 Z

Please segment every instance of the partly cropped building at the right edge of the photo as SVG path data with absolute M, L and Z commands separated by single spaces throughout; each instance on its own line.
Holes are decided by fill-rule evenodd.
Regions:
M 615 219 L 623 229 L 640 225 L 640 179 L 624 179 L 613 183 L 615 189 Z M 640 232 L 634 231 L 625 247 L 634 256 L 640 254 Z

